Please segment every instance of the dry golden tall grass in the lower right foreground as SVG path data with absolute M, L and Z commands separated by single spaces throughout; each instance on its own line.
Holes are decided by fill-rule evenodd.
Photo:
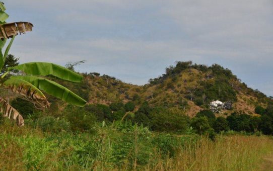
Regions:
M 260 170 L 263 158 L 273 151 L 265 136 L 219 136 L 216 142 L 201 138 L 194 146 L 179 149 L 175 158 L 161 160 L 147 170 Z

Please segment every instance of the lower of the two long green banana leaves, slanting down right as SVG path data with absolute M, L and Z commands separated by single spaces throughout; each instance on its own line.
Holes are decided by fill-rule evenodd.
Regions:
M 77 96 L 70 90 L 66 89 L 62 85 L 45 79 L 38 76 L 31 76 L 31 75 L 21 75 L 21 76 L 12 76 L 11 79 L 22 79 L 25 80 L 36 88 L 44 91 L 45 93 L 54 96 L 58 99 L 63 100 L 64 102 L 70 103 L 72 105 L 83 107 L 86 105 L 86 101 L 81 97 Z

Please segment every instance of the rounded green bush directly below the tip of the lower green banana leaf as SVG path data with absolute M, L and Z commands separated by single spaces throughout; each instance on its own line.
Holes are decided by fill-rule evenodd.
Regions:
M 94 129 L 97 118 L 93 113 L 71 105 L 67 106 L 64 112 L 73 131 L 92 131 Z

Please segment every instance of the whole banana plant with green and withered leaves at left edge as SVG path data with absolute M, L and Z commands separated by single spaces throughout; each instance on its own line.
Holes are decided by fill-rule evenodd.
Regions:
M 21 35 L 32 31 L 33 28 L 33 25 L 29 22 L 6 23 L 9 15 L 5 13 L 5 10 L 4 3 L 0 2 L 0 71 L 3 69 L 15 37 L 18 34 Z M 4 46 L 9 39 L 10 42 L 4 51 Z M 7 75 L 11 75 L 10 73 L 14 69 L 21 71 L 21 74 L 9 76 L 7 79 Z M 55 76 L 72 82 L 81 82 L 83 79 L 80 74 L 57 64 L 30 62 L 9 67 L 8 71 L 0 76 L 0 87 L 5 87 L 14 93 L 20 94 L 36 107 L 42 109 L 50 106 L 44 93 L 76 106 L 83 107 L 86 105 L 87 102 L 84 99 L 48 79 L 47 76 Z M 0 112 L 4 117 L 15 120 L 19 126 L 24 126 L 22 115 L 2 97 L 0 97 Z

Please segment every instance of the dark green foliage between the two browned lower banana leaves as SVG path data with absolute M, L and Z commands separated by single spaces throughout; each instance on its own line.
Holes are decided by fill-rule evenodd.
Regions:
M 23 117 L 27 117 L 34 111 L 34 105 L 21 98 L 16 98 L 11 102 L 11 105 L 18 111 Z

